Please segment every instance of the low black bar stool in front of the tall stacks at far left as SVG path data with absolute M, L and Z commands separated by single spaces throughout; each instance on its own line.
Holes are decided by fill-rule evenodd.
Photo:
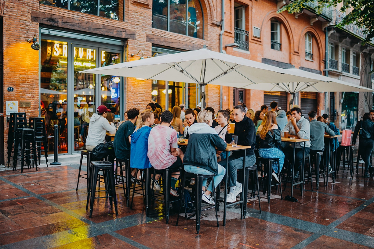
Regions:
M 25 164 L 27 164 L 28 168 L 31 167 L 31 162 L 33 162 L 33 168 L 35 164 L 36 171 L 38 171 L 34 129 L 17 129 L 16 139 L 14 142 L 13 170 L 16 170 L 18 161 L 21 161 L 21 173 L 23 172 Z

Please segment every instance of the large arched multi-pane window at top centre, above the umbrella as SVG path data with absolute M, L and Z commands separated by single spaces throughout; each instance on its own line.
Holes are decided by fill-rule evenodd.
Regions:
M 203 19 L 200 0 L 153 0 L 152 28 L 203 39 Z

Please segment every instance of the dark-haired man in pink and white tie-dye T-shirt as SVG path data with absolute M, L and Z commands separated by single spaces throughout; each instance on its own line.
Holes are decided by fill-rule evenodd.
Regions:
M 172 174 L 171 194 L 178 196 L 175 192 L 175 184 L 179 177 L 179 169 L 183 164 L 183 152 L 178 148 L 178 134 L 170 124 L 173 121 L 173 114 L 170 111 L 164 111 L 160 118 L 161 124 L 152 128 L 148 137 L 148 158 L 155 169 L 169 168 Z M 159 172 L 161 173 L 161 172 Z M 159 176 L 155 176 L 157 184 Z

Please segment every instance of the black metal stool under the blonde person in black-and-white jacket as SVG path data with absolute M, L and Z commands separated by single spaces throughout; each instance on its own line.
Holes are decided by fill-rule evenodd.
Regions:
M 196 209 L 196 233 L 199 234 L 199 231 L 200 231 L 200 218 L 201 218 L 201 211 L 205 211 L 205 210 L 208 210 L 208 209 L 212 209 L 214 208 L 215 209 L 215 217 L 217 219 L 217 227 L 220 226 L 220 224 L 218 223 L 218 214 L 217 214 L 217 200 L 216 200 L 216 194 L 215 194 L 215 188 L 214 188 L 214 175 L 200 175 L 200 174 L 194 174 L 194 173 L 190 173 L 190 172 L 184 172 L 184 175 L 183 175 L 183 182 L 182 182 L 182 193 L 181 193 L 181 200 L 180 200 L 180 207 L 179 207 L 179 212 L 178 212 L 178 218 L 177 218 L 177 223 L 175 224 L 175 226 L 178 226 L 178 221 L 179 221 L 179 217 L 180 217 L 180 212 L 181 212 L 181 207 L 182 205 L 184 206 L 184 214 L 185 214 L 185 217 L 187 218 L 187 212 L 186 212 L 186 208 L 187 208 L 187 204 L 188 203 L 193 203 L 195 202 L 195 209 Z M 185 198 L 184 198 L 184 189 L 183 189 L 183 186 L 185 186 L 186 184 L 186 178 L 189 178 L 189 179 L 192 179 L 194 178 L 195 179 L 195 200 L 192 201 L 192 202 L 186 202 Z M 203 180 L 204 178 L 211 178 L 212 180 L 212 186 L 213 186 L 213 199 L 214 199 L 214 205 L 210 208 L 206 208 L 206 209 L 201 209 L 201 197 L 202 197 L 202 191 L 203 191 Z M 191 218 L 191 217 L 190 217 Z

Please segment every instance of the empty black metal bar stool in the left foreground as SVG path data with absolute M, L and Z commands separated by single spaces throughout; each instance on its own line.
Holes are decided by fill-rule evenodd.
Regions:
M 90 203 L 90 218 L 92 217 L 93 202 L 98 198 L 109 198 L 110 207 L 116 210 L 116 215 L 118 215 L 117 210 L 117 196 L 116 196 L 116 186 L 114 185 L 114 171 L 113 164 L 109 161 L 93 161 L 90 164 L 89 173 L 89 185 L 90 191 L 87 193 L 87 204 L 86 210 L 88 209 L 88 202 Z M 96 190 L 96 185 L 98 182 L 99 171 L 102 171 L 104 175 L 105 190 Z M 95 197 L 96 192 L 105 192 L 105 196 Z

